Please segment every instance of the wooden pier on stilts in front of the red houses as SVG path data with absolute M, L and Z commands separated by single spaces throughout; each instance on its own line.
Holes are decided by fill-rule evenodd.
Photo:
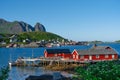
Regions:
M 35 66 L 35 67 L 45 67 L 48 65 L 70 65 L 70 64 L 86 64 L 88 61 L 76 61 L 73 59 L 62 59 L 60 57 L 52 58 L 18 58 L 15 62 L 12 63 L 12 66 Z

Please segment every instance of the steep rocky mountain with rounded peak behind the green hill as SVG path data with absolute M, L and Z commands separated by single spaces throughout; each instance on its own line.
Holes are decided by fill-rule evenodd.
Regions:
M 34 28 L 30 24 L 27 24 L 23 21 L 9 22 L 4 19 L 0 19 L 0 33 L 18 34 L 21 32 L 32 32 L 32 31 L 46 32 L 46 29 L 40 23 L 37 23 Z

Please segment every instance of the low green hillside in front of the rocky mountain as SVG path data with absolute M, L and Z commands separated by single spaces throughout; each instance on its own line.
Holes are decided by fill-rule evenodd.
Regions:
M 50 33 L 50 32 L 24 32 L 18 34 L 18 40 L 22 41 L 23 39 L 30 39 L 31 41 L 40 41 L 40 40 L 63 40 L 64 38 Z

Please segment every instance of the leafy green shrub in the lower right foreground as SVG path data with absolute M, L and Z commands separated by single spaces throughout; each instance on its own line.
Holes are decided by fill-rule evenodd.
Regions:
M 120 61 L 105 61 L 87 67 L 77 67 L 77 78 L 82 80 L 120 80 Z

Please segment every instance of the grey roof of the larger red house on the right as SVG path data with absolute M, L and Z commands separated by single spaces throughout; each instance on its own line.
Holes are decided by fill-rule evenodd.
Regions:
M 117 54 L 114 49 L 106 49 L 105 46 L 97 46 L 96 48 L 91 48 L 89 50 L 77 50 L 80 55 L 100 55 L 100 54 Z

